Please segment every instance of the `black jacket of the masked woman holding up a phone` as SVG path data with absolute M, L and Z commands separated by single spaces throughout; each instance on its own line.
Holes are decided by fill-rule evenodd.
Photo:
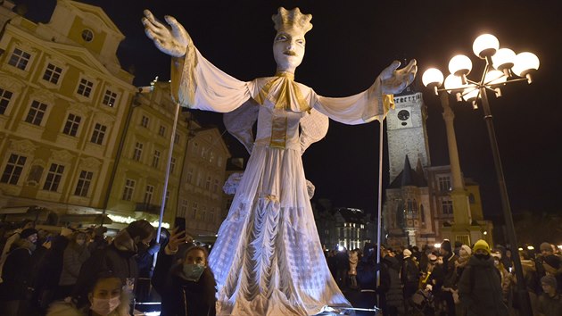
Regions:
M 203 271 L 197 282 L 182 279 L 182 265 L 172 267 L 174 255 L 158 254 L 153 286 L 162 298 L 163 316 L 215 316 L 215 278 L 211 269 Z M 170 269 L 171 268 L 171 269 Z

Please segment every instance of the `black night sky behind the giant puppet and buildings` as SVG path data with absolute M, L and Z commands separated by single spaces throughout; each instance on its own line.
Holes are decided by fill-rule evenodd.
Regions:
M 448 73 L 455 54 L 472 59 L 469 79 L 480 79 L 484 62 L 472 53 L 482 33 L 494 34 L 500 47 L 530 51 L 541 60 L 533 84 L 510 84 L 503 96 L 489 94 L 513 212 L 558 212 L 562 192 L 562 104 L 557 96 L 562 68 L 556 1 L 213 1 L 213 0 L 84 0 L 101 6 L 127 37 L 118 56 L 125 70 L 134 70 L 136 86 L 158 76 L 169 79 L 169 56 L 145 37 L 140 22 L 148 8 L 163 20 L 175 16 L 195 46 L 221 70 L 241 80 L 270 76 L 276 64 L 271 53 L 275 30 L 271 15 L 278 6 L 299 6 L 312 14 L 307 50 L 295 79 L 322 96 L 350 96 L 368 88 L 393 60 L 416 58 L 417 79 L 430 67 Z M 45 16 L 54 1 L 29 4 L 29 17 Z M 470 5 L 470 6 L 468 6 Z M 43 18 L 45 19 L 45 17 Z M 48 17 L 46 18 L 48 19 Z M 48 20 L 47 20 L 48 21 Z M 421 87 L 421 84 L 419 85 Z M 424 91 L 432 165 L 449 164 L 439 99 Z M 500 214 L 500 197 L 482 109 L 456 103 L 455 129 L 461 170 L 480 183 L 486 216 Z M 196 112 L 199 121 L 224 129 L 221 115 Z M 378 122 L 346 126 L 330 121 L 326 138 L 303 155 L 315 198 L 328 197 L 335 206 L 376 210 L 378 183 Z M 247 156 L 227 137 L 231 153 Z M 386 147 L 384 147 L 386 150 Z M 415 163 L 415 162 L 412 162 Z M 388 184 L 384 154 L 384 184 Z

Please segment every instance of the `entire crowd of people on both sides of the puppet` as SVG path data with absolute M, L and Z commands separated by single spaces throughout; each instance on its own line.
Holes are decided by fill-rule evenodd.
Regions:
M 136 220 L 113 237 L 106 232 L 70 226 L 54 234 L 35 229 L 30 220 L 15 229 L 2 226 L 0 314 L 124 316 L 136 300 L 154 294 L 162 315 L 215 314 L 208 249 L 194 245 L 185 231 L 164 229 L 156 238 L 149 222 Z M 533 315 L 559 316 L 562 255 L 547 242 L 539 250 L 515 253 L 526 295 Z M 522 315 L 513 255 L 484 240 L 474 245 L 444 240 L 439 248 L 421 250 L 384 245 L 332 250 L 326 262 L 344 293 L 366 293 L 384 315 Z

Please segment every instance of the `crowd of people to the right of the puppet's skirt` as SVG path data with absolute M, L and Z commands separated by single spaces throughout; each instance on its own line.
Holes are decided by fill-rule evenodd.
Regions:
M 348 291 L 373 290 L 384 315 L 524 315 L 517 295 L 511 249 L 444 240 L 440 247 L 380 247 L 332 250 L 326 261 L 338 285 Z M 533 315 L 562 315 L 562 254 L 542 243 L 540 252 L 518 250 Z M 380 284 L 376 284 L 376 271 Z M 375 297 L 374 295 L 372 297 Z

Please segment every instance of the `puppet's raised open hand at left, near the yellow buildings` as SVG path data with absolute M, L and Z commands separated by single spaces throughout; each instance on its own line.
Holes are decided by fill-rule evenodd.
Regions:
M 161 52 L 174 57 L 182 57 L 186 54 L 190 42 L 189 34 L 173 17 L 166 15 L 164 19 L 169 24 L 169 28 L 156 20 L 152 12 L 145 10 L 145 17 L 142 21 L 146 36 L 153 40 L 154 45 Z

